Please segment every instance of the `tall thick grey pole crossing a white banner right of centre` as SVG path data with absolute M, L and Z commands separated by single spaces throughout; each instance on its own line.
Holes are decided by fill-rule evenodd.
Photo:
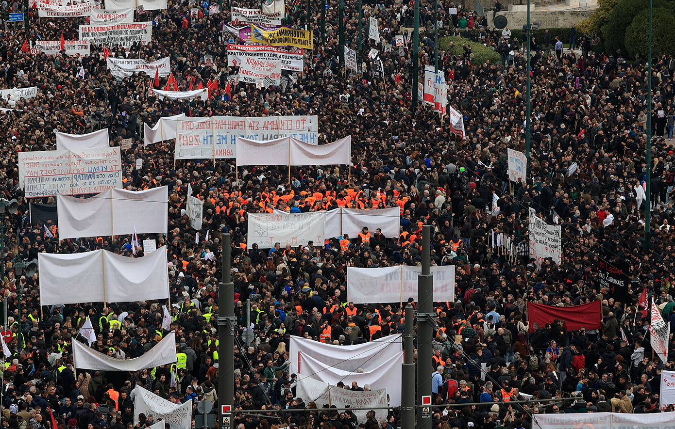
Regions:
M 417 0 L 419 1 L 419 0 Z M 429 273 L 431 255 L 431 225 L 422 227 L 422 273 L 417 277 L 417 404 L 431 395 L 431 359 L 433 358 L 433 327 L 436 315 L 433 312 L 433 275 Z M 431 429 L 431 414 L 421 409 L 417 414 L 417 429 Z

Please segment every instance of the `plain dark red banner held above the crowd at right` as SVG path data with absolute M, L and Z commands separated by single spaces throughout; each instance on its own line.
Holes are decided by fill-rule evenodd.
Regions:
M 535 331 L 535 323 L 539 323 L 539 327 L 543 328 L 547 323 L 553 323 L 553 319 L 565 321 L 568 331 L 578 331 L 580 327 L 585 327 L 585 329 L 601 329 L 601 305 L 600 301 L 594 301 L 590 304 L 571 307 L 552 307 L 528 302 L 527 312 L 530 332 Z

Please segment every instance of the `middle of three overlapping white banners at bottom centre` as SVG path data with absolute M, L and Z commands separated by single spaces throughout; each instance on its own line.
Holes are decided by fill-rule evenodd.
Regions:
M 387 356 L 387 360 L 372 370 L 363 372 L 351 372 L 333 368 L 313 358 L 313 354 L 300 352 L 300 371 L 298 381 L 304 378 L 313 378 L 329 385 L 337 385 L 342 381 L 351 385 L 356 381 L 358 387 L 370 385 L 371 389 L 387 389 L 389 405 L 398 407 L 401 405 L 401 376 L 403 353 Z M 323 404 L 322 404 L 323 405 Z

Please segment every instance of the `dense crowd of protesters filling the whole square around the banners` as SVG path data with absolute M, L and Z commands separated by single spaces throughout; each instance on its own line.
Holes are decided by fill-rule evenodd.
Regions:
M 646 288 L 664 319 L 675 323 L 670 294 L 675 150 L 668 140 L 675 123 L 674 59 L 654 59 L 647 76 L 640 59 L 591 49 L 597 44 L 591 43 L 593 37 L 576 30 L 580 51 L 558 52 L 555 30 L 541 44 L 533 42 L 529 174 L 525 181 L 510 182 L 507 149 L 525 152 L 522 36 L 508 28 L 485 28 L 485 17 L 461 7 L 450 15 L 457 5 L 439 3 L 440 21 L 433 29 L 433 2 L 422 2 L 419 64 L 421 69 L 433 64 L 433 30 L 466 37 L 463 55 L 438 55 L 449 105 L 464 117 L 465 139 L 454 135 L 447 117 L 439 119 L 430 106 L 412 105 L 410 2 L 362 7 L 358 73 L 338 59 L 338 7 L 329 4 L 322 40 L 321 5 L 311 5 L 315 49 L 305 51 L 304 72 L 286 90 L 232 82 L 228 87 L 228 77 L 237 70 L 227 66 L 226 45 L 238 37 L 223 32 L 221 24 L 229 24 L 229 6 L 257 7 L 254 2 L 223 3 L 214 15 L 199 2 L 173 0 L 162 11 L 136 12 L 137 21 L 153 21 L 152 42 L 134 44 L 128 53 L 110 46 L 111 55 L 148 61 L 169 57 L 180 90 L 218 82 L 208 100 L 192 101 L 148 95 L 155 82 L 145 73 L 116 79 L 106 67 L 103 46 L 92 46 L 92 55 L 85 57 L 22 50 L 26 40 L 59 40 L 61 34 L 77 39 L 78 25 L 87 18 L 38 19 L 33 8 L 27 28 L 7 24 L 0 87 L 37 86 L 38 93 L 14 106 L 0 100 L 1 189 L 3 197 L 19 201 L 16 214 L 3 215 L 3 298 L 13 333 L 2 378 L 3 427 L 151 426 L 154 416 L 139 420 L 134 415 L 136 385 L 173 403 L 192 401 L 194 414 L 202 399 L 216 404 L 217 294 L 222 234 L 229 233 L 236 288 L 231 304 L 239 329 L 236 393 L 225 402 L 238 410 L 237 429 L 394 429 L 400 426 L 399 407 L 391 407 L 385 421 L 377 421 L 374 413 L 359 420 L 350 410 L 312 411 L 328 404 L 297 397 L 298 374 L 287 368 L 288 340 L 299 335 L 350 345 L 402 332 L 399 303 L 350 302 L 346 267 L 420 265 L 423 225 L 433 227 L 433 265 L 456 267 L 456 302 L 436 306 L 433 362 L 416 362 L 435 370 L 434 429 L 531 429 L 532 414 L 672 410 L 673 405 L 659 401 L 659 391 L 661 371 L 674 369 L 675 358 L 669 354 L 662 362 L 653 353 L 649 317 L 637 304 Z M 194 7 L 197 15 L 190 13 Z M 286 9 L 289 25 L 307 24 L 306 5 L 287 2 Z M 358 2 L 346 1 L 345 40 L 352 48 L 359 46 L 360 11 Z M 380 44 L 368 38 L 371 17 L 378 20 Z M 385 49 L 401 34 L 402 51 Z M 471 45 L 478 43 L 502 53 L 502 62 L 477 62 Z M 379 64 L 367 57 L 371 48 L 379 49 L 383 77 Z M 213 65 L 205 65 L 205 55 L 213 56 Z M 651 106 L 646 79 L 652 81 Z M 159 88 L 166 81 L 162 78 Z M 161 117 L 180 113 L 317 114 L 320 143 L 352 135 L 352 165 L 291 168 L 289 179 L 286 166 L 236 171 L 228 159 L 174 164 L 174 141 L 144 146 L 141 131 L 144 123 L 153 126 Z M 654 136 L 650 165 L 647 115 Z M 41 252 L 104 248 L 132 257 L 128 236 L 59 240 L 52 224 L 47 226 L 55 237 L 45 234 L 45 225 L 30 221 L 29 201 L 18 181 L 18 152 L 55 149 L 54 131 L 81 134 L 105 127 L 111 145 L 133 141 L 132 149 L 123 151 L 125 189 L 169 187 L 169 234 L 141 234 L 140 239 L 167 245 L 171 331 L 179 360 L 135 373 L 77 370 L 72 341 L 84 341 L 78 331 L 89 319 L 97 333 L 94 350 L 120 359 L 141 356 L 167 333 L 161 323 L 166 302 L 41 306 L 39 273 L 27 277 L 17 266 Z M 144 162 L 136 169 L 139 158 Z M 651 240 L 645 246 L 647 169 L 652 207 Z M 205 201 L 198 232 L 202 239 L 209 232 L 207 242 L 195 242 L 184 211 L 188 185 Z M 335 207 L 400 207 L 400 236 L 387 238 L 371 226 L 358 237 L 306 246 L 279 243 L 269 249 L 247 240 L 247 213 Z M 562 226 L 560 261 L 545 259 L 537 266 L 530 258 L 529 208 L 545 222 Z M 142 255 L 139 248 L 136 257 Z M 627 292 L 615 296 L 616 291 L 601 288 L 599 262 L 626 267 Z M 247 300 L 252 302 L 250 345 L 241 336 L 250 329 Z M 601 329 L 572 331 L 558 320 L 529 329 L 526 302 L 572 306 L 595 300 L 602 304 Z M 416 304 L 414 297 L 410 302 Z M 344 385 L 362 389 L 349 377 Z M 555 398 L 560 401 L 547 400 Z

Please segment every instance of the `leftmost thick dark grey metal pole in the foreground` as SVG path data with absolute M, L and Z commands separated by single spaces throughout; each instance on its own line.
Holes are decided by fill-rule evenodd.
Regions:
M 232 414 L 223 414 L 223 405 L 232 405 L 234 401 L 234 330 L 237 323 L 234 318 L 234 283 L 230 279 L 232 266 L 232 248 L 229 234 L 223 234 L 221 282 L 218 284 L 218 407 L 219 427 L 232 427 Z M 225 419 L 227 417 L 227 419 Z M 227 422 L 227 423 L 226 423 Z

